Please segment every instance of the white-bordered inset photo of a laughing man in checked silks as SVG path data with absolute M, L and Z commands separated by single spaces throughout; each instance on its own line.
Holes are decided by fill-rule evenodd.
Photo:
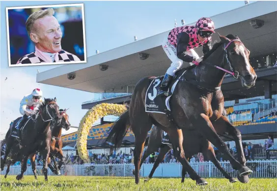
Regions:
M 6 7 L 9 66 L 86 63 L 83 3 Z

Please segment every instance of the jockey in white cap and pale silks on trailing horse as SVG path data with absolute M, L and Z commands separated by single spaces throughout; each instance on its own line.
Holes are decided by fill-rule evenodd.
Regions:
M 20 102 L 19 112 L 23 117 L 16 124 L 15 130 L 12 131 L 13 137 L 19 138 L 19 129 L 25 123 L 30 115 L 36 112 L 37 106 L 42 102 L 42 91 L 38 88 L 34 89 L 31 94 L 26 95 Z

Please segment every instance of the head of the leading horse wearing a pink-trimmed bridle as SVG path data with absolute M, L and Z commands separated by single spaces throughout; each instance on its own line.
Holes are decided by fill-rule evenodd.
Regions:
M 220 35 L 222 43 L 224 43 L 224 68 L 231 69 L 234 77 L 240 77 L 243 87 L 250 88 L 255 85 L 257 75 L 249 63 L 250 51 L 244 46 L 238 36 L 228 34 Z

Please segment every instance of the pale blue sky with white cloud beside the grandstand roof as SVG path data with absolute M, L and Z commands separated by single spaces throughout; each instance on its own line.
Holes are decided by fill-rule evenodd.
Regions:
M 253 1 L 250 1 L 252 3 Z M 72 126 L 79 123 L 87 110 L 84 101 L 98 95 L 68 88 L 36 83 L 37 69 L 40 72 L 59 65 L 8 66 L 6 7 L 51 4 L 84 4 L 86 55 L 95 50 L 105 52 L 131 43 L 136 35 L 143 39 L 174 28 L 181 20 L 186 24 L 200 17 L 210 17 L 241 6 L 240 1 L 1 1 L 0 2 L 0 140 L 4 138 L 12 120 L 20 117 L 19 106 L 23 96 L 35 88 L 43 91 L 44 97 L 56 97 L 60 108 L 70 108 L 67 113 Z M 216 23 L 215 23 L 216 27 Z M 6 79 L 7 78 L 7 79 Z M 63 129 L 62 133 L 76 131 Z

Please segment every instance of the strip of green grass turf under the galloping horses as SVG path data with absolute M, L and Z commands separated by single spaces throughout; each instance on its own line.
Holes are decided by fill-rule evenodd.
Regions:
M 132 177 L 49 176 L 48 182 L 43 176 L 38 176 L 38 180 L 24 176 L 21 181 L 15 176 L 0 178 L 1 191 L 277 191 L 277 178 L 251 178 L 248 184 L 206 178 L 206 186 L 196 186 L 189 178 L 185 183 L 180 178 L 153 178 L 144 183 L 144 178 L 140 178 L 139 185 L 135 185 Z

